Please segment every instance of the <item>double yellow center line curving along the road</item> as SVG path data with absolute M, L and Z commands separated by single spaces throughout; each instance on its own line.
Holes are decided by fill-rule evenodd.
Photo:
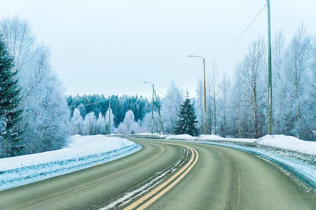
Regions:
M 159 192 L 154 197 L 150 198 L 148 201 L 146 201 L 144 204 L 142 204 L 141 206 L 139 206 L 137 208 L 137 209 L 144 209 L 145 207 L 147 207 L 148 205 L 153 203 L 155 200 L 160 198 L 163 194 L 165 194 L 168 190 L 170 190 L 174 185 L 176 185 L 193 168 L 193 166 L 196 164 L 196 162 L 198 160 L 198 153 L 197 153 L 197 151 L 194 148 L 191 148 L 191 147 L 188 147 L 188 146 L 185 146 L 185 147 L 188 148 L 191 151 L 191 153 L 192 153 L 192 157 L 191 157 L 190 161 L 180 171 L 178 171 L 175 175 L 173 175 L 170 179 L 168 179 L 162 185 L 160 185 L 159 187 L 155 188 L 154 190 L 152 190 L 148 194 L 144 195 L 143 197 L 141 197 L 137 201 L 133 202 L 132 204 L 128 205 L 127 207 L 124 208 L 124 210 L 134 209 L 135 207 L 140 205 L 142 202 L 144 202 L 145 200 L 147 200 L 151 196 L 153 196 L 155 193 L 159 192 L 161 189 L 163 189 L 165 186 L 167 186 L 169 183 L 171 183 L 174 179 L 176 179 L 181 173 L 183 173 L 183 171 L 186 170 L 180 177 L 178 177 L 168 187 L 166 187 L 164 190 L 162 190 L 161 192 Z M 196 158 L 194 160 L 195 154 L 196 154 Z M 193 162 L 193 160 L 194 160 L 194 162 Z M 193 162 L 193 164 L 190 165 L 192 162 Z

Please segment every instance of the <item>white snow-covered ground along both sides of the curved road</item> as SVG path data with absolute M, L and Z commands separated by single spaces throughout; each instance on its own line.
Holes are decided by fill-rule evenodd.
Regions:
M 151 135 L 176 141 L 226 145 L 284 163 L 316 183 L 316 142 L 293 136 L 266 135 L 259 139 L 223 138 L 216 135 Z M 0 190 L 88 168 L 132 154 L 141 149 L 132 141 L 104 135 L 71 136 L 71 144 L 62 150 L 0 159 Z

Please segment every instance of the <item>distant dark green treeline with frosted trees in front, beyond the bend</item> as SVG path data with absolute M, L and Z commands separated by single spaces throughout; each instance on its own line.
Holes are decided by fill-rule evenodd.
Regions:
M 72 112 L 71 134 L 150 132 L 152 104 L 146 97 L 77 95 L 68 96 L 67 101 Z

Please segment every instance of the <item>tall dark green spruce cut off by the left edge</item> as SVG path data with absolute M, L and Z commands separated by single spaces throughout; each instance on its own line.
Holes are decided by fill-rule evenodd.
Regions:
M 5 42 L 0 34 L 0 118 L 6 126 L 0 133 L 0 157 L 18 155 L 19 132 L 17 124 L 20 121 L 21 110 L 19 90 L 16 79 L 17 72 L 12 72 L 14 59 L 9 55 Z

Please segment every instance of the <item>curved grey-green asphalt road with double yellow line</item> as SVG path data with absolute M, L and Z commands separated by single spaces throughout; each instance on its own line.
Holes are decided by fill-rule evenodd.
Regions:
M 0 191 L 0 209 L 316 209 L 315 190 L 253 154 L 135 142 L 119 160 Z

